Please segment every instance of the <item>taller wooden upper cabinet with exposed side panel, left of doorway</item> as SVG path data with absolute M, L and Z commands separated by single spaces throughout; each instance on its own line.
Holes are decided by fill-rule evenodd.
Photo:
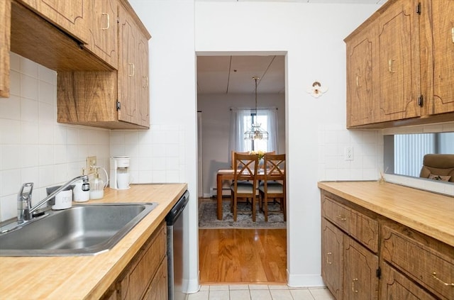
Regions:
M 57 121 L 109 129 L 150 128 L 148 39 L 130 6 L 118 5 L 118 71 L 59 72 Z

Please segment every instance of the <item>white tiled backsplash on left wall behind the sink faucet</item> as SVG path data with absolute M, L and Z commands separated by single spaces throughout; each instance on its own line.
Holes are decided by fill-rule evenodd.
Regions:
M 17 216 L 17 194 L 33 182 L 33 204 L 45 187 L 67 182 L 96 155 L 109 169 L 109 130 L 57 123 L 57 73 L 11 53 L 11 96 L 0 98 L 0 221 Z

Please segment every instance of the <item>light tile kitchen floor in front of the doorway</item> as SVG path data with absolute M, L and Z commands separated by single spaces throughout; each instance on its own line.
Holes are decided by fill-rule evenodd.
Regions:
M 334 300 L 326 288 L 292 288 L 287 285 L 202 285 L 187 300 Z

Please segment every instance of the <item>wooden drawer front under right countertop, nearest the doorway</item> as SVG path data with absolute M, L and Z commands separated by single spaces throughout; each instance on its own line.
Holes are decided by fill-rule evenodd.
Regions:
M 378 252 L 378 221 L 325 196 L 322 201 L 325 218 L 345 230 L 362 245 Z

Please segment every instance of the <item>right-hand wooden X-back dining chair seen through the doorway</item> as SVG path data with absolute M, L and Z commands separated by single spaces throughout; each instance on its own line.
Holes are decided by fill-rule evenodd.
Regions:
M 287 221 L 287 205 L 285 190 L 285 154 L 265 154 L 263 181 L 260 182 L 259 207 L 268 221 L 268 201 L 279 201 L 279 212 L 284 213 Z

